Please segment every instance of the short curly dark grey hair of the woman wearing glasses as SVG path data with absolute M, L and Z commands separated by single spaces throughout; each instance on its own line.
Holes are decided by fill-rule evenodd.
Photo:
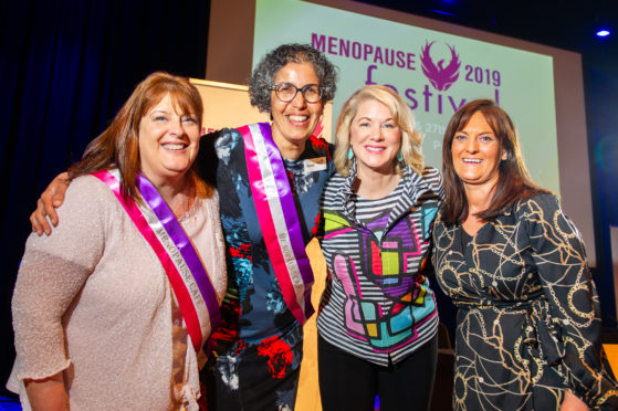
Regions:
M 320 78 L 322 102 L 335 97 L 337 89 L 337 68 L 324 54 L 307 44 L 283 44 L 269 52 L 253 70 L 249 84 L 251 105 L 262 113 L 271 112 L 271 87 L 276 73 L 287 63 L 311 63 Z

